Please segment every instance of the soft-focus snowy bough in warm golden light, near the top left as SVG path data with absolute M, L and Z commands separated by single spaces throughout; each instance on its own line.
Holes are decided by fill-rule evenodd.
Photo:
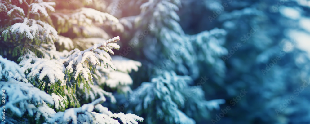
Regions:
M 99 37 L 108 39 L 108 34 L 97 24 L 110 24 L 110 27 L 115 30 L 123 31 L 124 27 L 119 23 L 118 19 L 113 15 L 94 10 L 92 8 L 81 8 L 75 13 L 67 13 L 67 11 L 52 13 L 57 18 L 57 31 L 59 33 L 68 32 L 69 29 L 73 33 L 83 35 L 86 38 Z

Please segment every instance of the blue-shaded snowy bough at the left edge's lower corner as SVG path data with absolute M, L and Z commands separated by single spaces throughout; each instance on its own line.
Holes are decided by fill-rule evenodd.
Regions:
M 27 113 L 30 117 L 35 116 L 35 113 L 45 114 L 49 113 L 49 109 L 41 109 L 48 104 L 53 105 L 52 97 L 44 91 L 34 87 L 31 83 L 25 80 L 25 75 L 20 67 L 7 59 L 0 56 L 1 75 L 0 88 L 5 92 L 5 108 L 6 108 L 6 122 L 8 123 L 27 123 L 28 120 L 22 118 Z M 3 78 L 4 77 L 4 78 Z M 5 79 L 5 80 L 3 80 Z M 23 80 L 24 82 L 20 82 Z M 40 118 L 40 116 L 35 116 Z M 29 123 L 29 122 L 28 122 Z

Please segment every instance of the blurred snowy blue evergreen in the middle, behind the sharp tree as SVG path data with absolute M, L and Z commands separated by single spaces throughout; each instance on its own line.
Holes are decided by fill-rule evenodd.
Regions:
M 207 83 L 208 79 L 201 73 L 215 73 L 218 77 L 224 74 L 220 56 L 227 53 L 221 46 L 226 32 L 215 28 L 186 35 L 178 23 L 179 0 L 130 3 L 129 7 L 116 12 L 122 16 L 119 20 L 125 27 L 120 35 L 129 44 L 119 55 L 142 62 L 142 69 L 134 74 L 137 75 L 134 80 L 142 84 L 136 84 L 140 86 L 130 96 L 118 96 L 121 102 L 112 108 L 117 111 L 119 106 L 128 106 L 125 111 L 144 117 L 146 123 L 196 123 L 210 118 L 209 112 L 218 109 L 224 100 L 206 100 L 201 83 Z M 132 9 L 137 6 L 141 10 Z M 133 15 L 127 15 L 127 9 L 133 10 L 130 13 Z M 128 48 L 133 47 L 130 52 Z M 214 70 L 206 70 L 210 68 Z M 203 82 L 196 84 L 193 80 Z

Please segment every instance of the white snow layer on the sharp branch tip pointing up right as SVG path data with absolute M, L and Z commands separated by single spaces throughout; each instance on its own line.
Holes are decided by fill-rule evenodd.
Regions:
M 111 57 L 107 52 L 113 55 L 114 53 L 109 47 L 119 49 L 119 46 L 114 43 L 118 40 L 119 37 L 117 36 L 107 40 L 106 42 L 103 41 L 99 44 L 94 44 L 93 47 L 90 47 L 84 51 L 80 51 L 78 49 L 73 50 L 73 53 L 63 60 L 68 63 L 66 70 L 73 73 L 74 79 L 77 79 L 81 73 L 82 77 L 85 78 L 86 81 L 92 78 L 92 75 L 90 75 L 90 70 L 86 68 L 86 59 L 89 60 L 91 63 L 90 65 L 103 64 L 105 68 L 111 67 L 113 70 L 116 70 L 115 66 L 111 62 Z

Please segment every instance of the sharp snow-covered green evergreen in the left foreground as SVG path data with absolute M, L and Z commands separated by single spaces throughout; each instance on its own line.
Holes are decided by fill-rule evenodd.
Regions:
M 111 34 L 100 26 L 122 30 L 122 25 L 113 15 L 95 9 L 100 1 L 64 2 L 1 0 L 2 121 L 143 121 L 134 114 L 111 113 L 100 104 L 116 102 L 108 91 L 130 90 L 128 73 L 141 66 L 109 55 L 119 49 L 115 42 L 120 38 L 109 39 Z

